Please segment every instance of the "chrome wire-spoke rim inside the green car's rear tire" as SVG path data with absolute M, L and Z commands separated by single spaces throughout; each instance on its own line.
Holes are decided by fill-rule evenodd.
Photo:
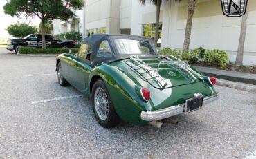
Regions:
M 94 94 L 94 106 L 98 117 L 101 120 L 106 120 L 109 114 L 109 100 L 107 94 L 102 88 L 97 88 Z

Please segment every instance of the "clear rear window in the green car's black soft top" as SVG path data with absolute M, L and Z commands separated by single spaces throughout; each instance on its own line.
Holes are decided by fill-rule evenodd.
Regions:
M 148 41 L 134 39 L 115 39 L 120 54 L 154 54 Z

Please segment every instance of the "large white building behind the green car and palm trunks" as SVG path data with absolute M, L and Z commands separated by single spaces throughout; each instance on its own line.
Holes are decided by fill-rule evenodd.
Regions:
M 161 6 L 161 47 L 183 48 L 188 0 L 180 3 L 164 1 Z M 244 48 L 244 64 L 256 64 L 256 1 L 250 1 L 247 8 L 248 27 Z M 81 32 L 84 37 L 92 33 L 122 33 L 154 36 L 156 6 L 146 1 L 143 6 L 139 0 L 86 0 Z M 59 27 L 59 28 L 58 28 Z M 59 24 L 57 31 L 68 30 Z M 63 28 L 63 29 L 62 29 Z M 221 1 L 198 0 L 192 24 L 190 49 L 219 48 L 229 53 L 230 62 L 235 62 L 241 17 L 223 15 Z M 56 33 L 56 32 L 55 32 Z

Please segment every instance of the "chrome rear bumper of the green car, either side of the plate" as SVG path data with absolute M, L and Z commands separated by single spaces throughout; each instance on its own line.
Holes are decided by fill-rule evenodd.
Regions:
M 211 95 L 210 97 L 203 97 L 203 105 L 213 102 L 219 98 L 219 93 Z M 166 109 L 156 111 L 142 111 L 140 118 L 145 121 L 154 121 L 169 118 L 174 115 L 185 113 L 185 103 L 176 106 L 170 106 Z

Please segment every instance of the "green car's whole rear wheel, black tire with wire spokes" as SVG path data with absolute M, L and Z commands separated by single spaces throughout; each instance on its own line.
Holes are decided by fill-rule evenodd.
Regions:
M 98 123 L 105 128 L 115 127 L 119 124 L 120 118 L 111 102 L 109 91 L 102 80 L 98 80 L 92 89 L 93 112 Z

